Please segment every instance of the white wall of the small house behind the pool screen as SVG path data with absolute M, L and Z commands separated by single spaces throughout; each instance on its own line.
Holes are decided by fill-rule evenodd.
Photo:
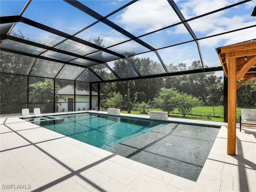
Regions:
M 74 95 L 62 95 L 63 98 L 59 99 L 59 104 L 61 106 L 58 107 L 58 112 L 68 112 L 68 98 L 73 98 Z M 66 99 L 66 101 L 65 101 Z M 74 109 L 73 103 L 73 109 Z M 75 111 L 89 110 L 90 108 L 90 96 L 88 95 L 77 95 L 76 96 L 76 109 Z M 98 110 L 98 96 L 92 96 L 92 110 Z

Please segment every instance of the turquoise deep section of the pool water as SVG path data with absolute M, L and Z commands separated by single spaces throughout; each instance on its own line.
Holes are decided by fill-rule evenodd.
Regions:
M 106 148 L 130 136 L 144 133 L 150 128 L 168 124 L 160 121 L 96 114 L 58 116 L 60 119 L 58 121 L 45 121 L 46 118 L 30 122 L 98 148 Z

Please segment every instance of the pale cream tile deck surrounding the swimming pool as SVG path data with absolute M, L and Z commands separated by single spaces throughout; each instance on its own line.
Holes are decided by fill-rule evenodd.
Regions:
M 236 156 L 231 156 L 226 123 L 168 120 L 221 126 L 196 182 L 8 117 L 0 118 L 0 191 L 256 191 L 255 129 L 240 132 L 237 124 Z

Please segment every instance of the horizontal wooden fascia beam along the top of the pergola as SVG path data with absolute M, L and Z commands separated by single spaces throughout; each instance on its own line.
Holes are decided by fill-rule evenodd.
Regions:
M 221 47 L 221 53 L 248 50 L 253 48 L 256 48 L 256 40 Z

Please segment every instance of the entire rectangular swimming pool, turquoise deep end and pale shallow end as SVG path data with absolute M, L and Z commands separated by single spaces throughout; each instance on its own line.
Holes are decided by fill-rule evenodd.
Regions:
M 31 120 L 44 128 L 196 181 L 219 128 L 98 114 Z

